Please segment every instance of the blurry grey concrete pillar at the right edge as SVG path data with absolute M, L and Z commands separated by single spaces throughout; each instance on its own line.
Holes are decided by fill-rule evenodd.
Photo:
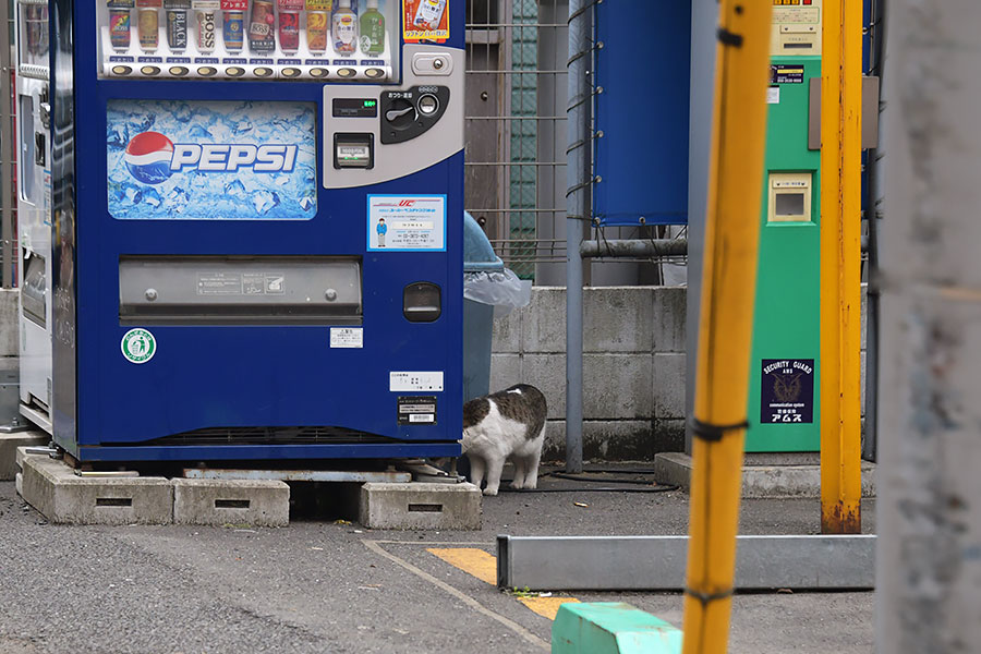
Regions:
M 877 651 L 981 642 L 981 3 L 888 3 Z

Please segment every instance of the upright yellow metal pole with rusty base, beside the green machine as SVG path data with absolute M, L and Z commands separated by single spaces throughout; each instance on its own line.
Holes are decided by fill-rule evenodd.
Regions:
M 821 531 L 861 532 L 862 3 L 825 0 L 821 90 Z

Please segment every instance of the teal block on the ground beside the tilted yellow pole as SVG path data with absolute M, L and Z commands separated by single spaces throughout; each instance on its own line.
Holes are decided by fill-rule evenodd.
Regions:
M 623 602 L 562 604 L 552 626 L 552 654 L 680 652 L 680 629 Z

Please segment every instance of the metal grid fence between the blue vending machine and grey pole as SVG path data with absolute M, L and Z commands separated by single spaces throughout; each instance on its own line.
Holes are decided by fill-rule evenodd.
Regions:
M 525 279 L 565 261 L 567 15 L 560 0 L 467 2 L 465 206 Z

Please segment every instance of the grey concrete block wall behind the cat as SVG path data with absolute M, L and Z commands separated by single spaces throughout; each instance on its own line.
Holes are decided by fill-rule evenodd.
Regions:
M 685 443 L 683 288 L 588 288 L 583 298 L 583 458 L 649 460 Z M 494 324 L 491 388 L 519 382 L 548 400 L 543 459 L 566 443 L 566 290 L 535 287 Z

